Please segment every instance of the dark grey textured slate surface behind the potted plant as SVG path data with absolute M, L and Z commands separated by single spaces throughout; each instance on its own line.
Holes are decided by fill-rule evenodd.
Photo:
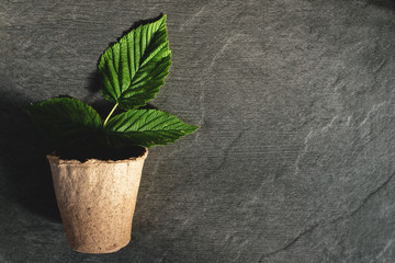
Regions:
M 395 262 L 394 8 L 1 1 L 0 262 Z M 100 106 L 99 56 L 161 12 L 173 65 L 153 105 L 202 127 L 150 150 L 129 245 L 74 252 L 20 106 Z

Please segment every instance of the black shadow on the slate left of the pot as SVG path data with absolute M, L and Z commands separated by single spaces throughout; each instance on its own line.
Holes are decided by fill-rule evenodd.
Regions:
M 30 100 L 21 94 L 0 98 L 1 176 L 5 180 L 5 195 L 29 210 L 50 220 L 60 221 L 46 155 L 49 145 L 36 132 L 22 106 Z

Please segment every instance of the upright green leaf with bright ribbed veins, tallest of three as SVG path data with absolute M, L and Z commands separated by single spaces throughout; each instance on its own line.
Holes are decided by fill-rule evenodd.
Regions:
M 165 84 L 170 65 L 165 14 L 131 31 L 104 52 L 99 62 L 102 94 L 124 110 L 146 105 Z

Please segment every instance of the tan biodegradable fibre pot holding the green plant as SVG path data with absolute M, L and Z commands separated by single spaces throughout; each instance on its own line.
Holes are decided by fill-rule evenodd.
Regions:
M 57 204 L 71 249 L 111 253 L 128 244 L 148 150 L 119 161 L 86 162 L 47 156 Z

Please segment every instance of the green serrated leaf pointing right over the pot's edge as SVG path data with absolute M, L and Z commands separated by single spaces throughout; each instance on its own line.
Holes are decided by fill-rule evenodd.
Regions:
M 110 140 L 119 148 L 167 145 L 198 128 L 157 110 L 129 110 L 111 118 L 105 126 Z

